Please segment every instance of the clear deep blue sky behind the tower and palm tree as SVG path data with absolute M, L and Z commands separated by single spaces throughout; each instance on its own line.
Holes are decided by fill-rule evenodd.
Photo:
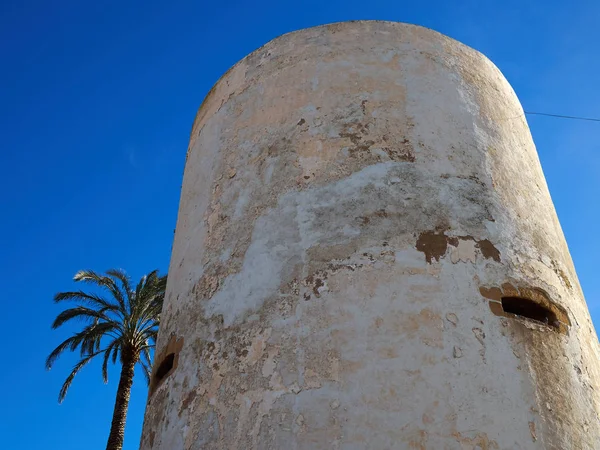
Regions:
M 501 5 L 502 4 L 502 5 Z M 488 55 L 525 109 L 600 117 L 600 3 L 285 0 L 0 3 L 0 274 L 6 449 L 101 450 L 118 372 L 57 394 L 74 359 L 44 358 L 52 296 L 81 268 L 166 271 L 192 120 L 212 84 L 287 31 L 350 19 L 411 22 Z M 167 6 L 169 5 L 169 6 Z M 600 123 L 530 117 L 596 326 Z M 140 374 L 141 375 L 141 374 Z M 136 379 L 125 449 L 138 448 Z

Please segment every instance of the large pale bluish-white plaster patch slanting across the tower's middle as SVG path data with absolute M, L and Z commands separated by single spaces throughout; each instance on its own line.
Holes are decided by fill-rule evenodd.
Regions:
M 222 314 L 224 325 L 229 326 L 260 308 L 278 292 L 287 261 L 300 259 L 319 241 L 334 242 L 339 230 L 323 235 L 318 226 L 312 225 L 315 210 L 335 203 L 337 198 L 357 196 L 367 185 L 384 187 L 388 171 L 398 164 L 402 163 L 375 164 L 330 185 L 280 197 L 276 208 L 256 220 L 242 269 L 228 276 L 206 304 L 207 317 Z

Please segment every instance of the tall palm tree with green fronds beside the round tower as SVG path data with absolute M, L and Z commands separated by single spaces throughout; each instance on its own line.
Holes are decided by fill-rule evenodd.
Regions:
M 54 296 L 57 303 L 70 300 L 77 305 L 61 312 L 52 328 L 75 319 L 81 320 L 84 327 L 50 353 L 46 369 L 50 370 L 64 351 L 79 349 L 81 359 L 58 395 L 58 401 L 62 403 L 75 375 L 94 357 L 103 355 L 102 378 L 105 383 L 108 382 L 109 360 L 112 359 L 114 364 L 119 359 L 121 378 L 106 449 L 121 450 L 136 364 L 141 366 L 146 381 L 150 382 L 150 350 L 156 342 L 167 277 L 159 276 L 155 270 L 143 276 L 135 289 L 127 274 L 116 269 L 106 271 L 106 275 L 82 270 L 73 279 L 100 287 L 108 296 L 82 290 L 59 292 Z

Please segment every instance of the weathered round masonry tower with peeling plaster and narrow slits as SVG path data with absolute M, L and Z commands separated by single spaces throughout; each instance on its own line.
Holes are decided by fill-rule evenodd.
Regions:
M 196 117 L 141 448 L 597 450 L 598 347 L 500 71 L 302 30 Z

